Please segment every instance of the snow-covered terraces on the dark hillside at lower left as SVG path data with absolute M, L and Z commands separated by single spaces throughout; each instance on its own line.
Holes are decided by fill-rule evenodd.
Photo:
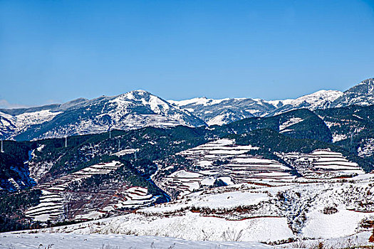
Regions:
M 34 221 L 56 221 L 62 216 L 68 216 L 67 208 L 74 202 L 72 200 L 73 192 L 67 189 L 69 184 L 89 178 L 95 174 L 109 174 L 110 171 L 118 169 L 120 166 L 122 164 L 118 161 L 95 164 L 75 173 L 53 179 L 53 181 L 47 184 L 38 185 L 37 188 L 42 190 L 40 203 L 38 206 L 29 208 L 26 211 L 26 216 L 33 218 Z M 101 198 L 103 203 L 97 208 L 89 208 L 83 205 L 79 208 L 69 210 L 70 213 L 73 213 L 73 219 L 75 220 L 100 218 L 105 213 L 123 208 L 149 206 L 157 198 L 151 194 L 147 194 L 147 189 L 141 187 L 118 189 L 114 194 L 82 194 L 88 195 L 88 199 L 94 197 Z M 82 197 L 80 201 L 83 200 L 84 198 Z

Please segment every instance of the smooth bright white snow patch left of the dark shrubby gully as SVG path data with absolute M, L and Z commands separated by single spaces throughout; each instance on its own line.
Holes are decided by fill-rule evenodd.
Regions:
M 49 229 L 49 231 L 51 231 Z M 48 228 L 41 233 L 48 233 Z M 53 228 L 55 233 L 160 235 L 187 240 L 209 241 L 274 241 L 294 237 L 286 218 L 261 217 L 242 221 L 200 216 L 147 217 L 137 213 L 71 226 Z

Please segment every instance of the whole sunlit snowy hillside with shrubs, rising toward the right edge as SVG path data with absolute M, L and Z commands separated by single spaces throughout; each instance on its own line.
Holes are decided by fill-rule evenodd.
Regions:
M 176 201 L 141 208 L 125 216 L 52 229 L 54 233 L 268 243 L 290 238 L 312 242 L 341 240 L 365 234 L 367 242 L 372 228 L 363 224 L 374 221 L 373 182 L 374 174 L 360 174 L 350 181 L 284 186 L 235 184 L 186 194 Z M 38 230 L 48 231 L 51 228 Z M 295 245 L 284 248 L 288 246 Z

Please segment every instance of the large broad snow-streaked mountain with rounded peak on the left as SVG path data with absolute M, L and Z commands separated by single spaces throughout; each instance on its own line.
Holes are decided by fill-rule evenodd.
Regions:
M 50 110 L 30 111 L 17 115 L 11 115 L 16 110 L 7 111 L 10 114 L 0 113 L 3 137 L 29 140 L 95 134 L 108 129 L 205 125 L 204 121 L 189 112 L 144 90 L 94 100 L 74 100 L 53 106 Z

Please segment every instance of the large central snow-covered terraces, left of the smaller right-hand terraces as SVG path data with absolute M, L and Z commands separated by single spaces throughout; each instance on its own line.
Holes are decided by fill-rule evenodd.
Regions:
M 279 161 L 254 157 L 246 152 L 257 147 L 239 146 L 234 140 L 219 139 L 179 154 L 193 161 L 200 170 L 177 171 L 160 182 L 162 188 L 176 188 L 182 195 L 221 180 L 226 184 L 256 182 L 259 184 L 289 184 L 296 176 L 291 168 Z

